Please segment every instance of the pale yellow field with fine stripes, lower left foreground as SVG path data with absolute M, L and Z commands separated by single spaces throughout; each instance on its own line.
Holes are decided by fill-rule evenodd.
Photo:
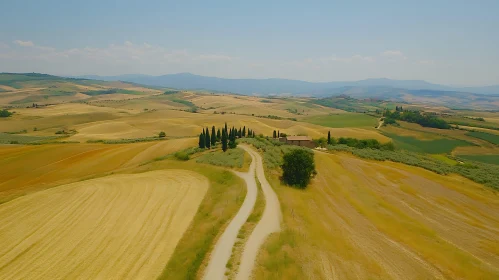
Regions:
M 156 278 L 207 189 L 208 180 L 192 171 L 151 171 L 0 205 L 0 278 Z

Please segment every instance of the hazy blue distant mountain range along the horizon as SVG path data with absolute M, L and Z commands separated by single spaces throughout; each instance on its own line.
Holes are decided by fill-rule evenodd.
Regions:
M 162 76 L 149 75 L 119 75 L 119 76 L 97 76 L 86 75 L 78 78 L 125 81 L 149 86 L 170 87 L 177 89 L 211 90 L 219 92 L 231 92 L 245 95 L 306 95 L 326 96 L 338 93 L 345 88 L 385 88 L 405 90 L 436 90 L 455 91 L 475 94 L 498 94 L 499 85 L 484 87 L 450 87 L 433 84 L 422 80 L 392 80 L 392 79 L 366 79 L 352 82 L 305 82 L 287 79 L 226 79 L 206 77 L 191 73 L 169 74 Z

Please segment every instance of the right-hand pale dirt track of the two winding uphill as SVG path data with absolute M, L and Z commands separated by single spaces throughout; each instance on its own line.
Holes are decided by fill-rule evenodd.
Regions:
M 236 280 L 246 280 L 251 277 L 258 251 L 265 242 L 265 239 L 267 239 L 271 233 L 281 230 L 282 213 L 279 199 L 265 178 L 262 157 L 248 146 L 240 145 L 239 147 L 243 148 L 251 155 L 251 158 L 253 159 L 251 164 L 256 163 L 256 175 L 258 181 L 260 181 L 265 197 L 265 210 L 262 218 L 244 246 L 241 264 L 239 265 L 239 271 L 236 276 Z M 250 173 L 252 173 L 251 170 L 252 169 L 250 168 Z

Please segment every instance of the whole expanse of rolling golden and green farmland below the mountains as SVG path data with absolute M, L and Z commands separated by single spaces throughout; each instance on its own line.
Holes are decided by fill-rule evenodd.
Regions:
M 487 106 L 40 74 L 0 84 L 12 113 L 0 118 L 3 279 L 499 277 L 499 113 Z M 449 129 L 389 120 L 402 107 Z M 226 124 L 255 135 L 199 147 Z M 295 149 L 315 159 L 305 189 L 282 181 Z

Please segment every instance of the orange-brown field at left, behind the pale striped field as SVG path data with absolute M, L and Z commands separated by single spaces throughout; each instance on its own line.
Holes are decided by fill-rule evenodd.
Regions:
M 55 185 L 102 176 L 192 147 L 196 139 L 123 145 L 0 146 L 0 202 Z

